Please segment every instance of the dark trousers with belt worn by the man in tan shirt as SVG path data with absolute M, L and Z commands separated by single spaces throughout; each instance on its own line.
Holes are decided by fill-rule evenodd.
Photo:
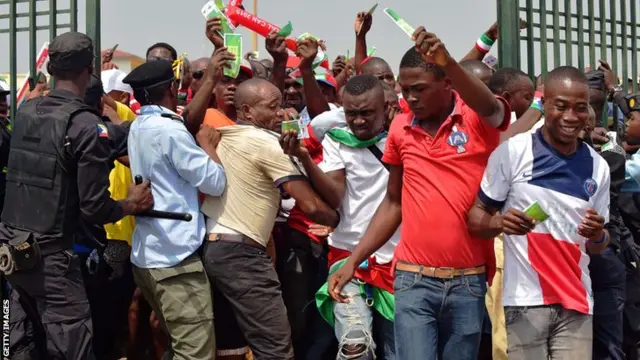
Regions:
M 293 360 L 287 309 L 266 250 L 205 241 L 202 262 L 212 284 L 228 300 L 254 358 Z

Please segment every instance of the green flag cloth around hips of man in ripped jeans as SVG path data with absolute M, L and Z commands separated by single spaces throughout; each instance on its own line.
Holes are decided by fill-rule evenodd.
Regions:
M 347 259 L 338 261 L 329 269 L 329 275 L 335 273 L 338 269 L 344 266 Z M 360 284 L 360 294 L 365 297 L 365 284 Z M 382 315 L 385 319 L 393 321 L 393 313 L 395 311 L 395 298 L 393 294 L 386 290 L 382 290 L 375 286 L 371 286 L 371 297 L 373 298 L 373 308 Z M 331 326 L 335 326 L 335 317 L 333 316 L 333 307 L 335 301 L 329 295 L 329 284 L 324 283 L 320 290 L 316 292 L 316 306 L 323 319 L 325 319 Z

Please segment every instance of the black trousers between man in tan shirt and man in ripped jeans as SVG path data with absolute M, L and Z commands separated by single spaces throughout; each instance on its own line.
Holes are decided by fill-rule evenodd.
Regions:
M 320 316 L 315 294 L 327 281 L 328 247 L 288 226 L 275 239 L 276 271 L 282 283 L 296 360 L 335 359 L 338 342 Z

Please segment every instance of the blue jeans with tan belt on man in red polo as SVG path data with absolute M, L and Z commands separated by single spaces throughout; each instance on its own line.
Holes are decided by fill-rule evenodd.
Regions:
M 396 270 L 396 356 L 476 360 L 485 315 L 485 274 L 437 279 Z

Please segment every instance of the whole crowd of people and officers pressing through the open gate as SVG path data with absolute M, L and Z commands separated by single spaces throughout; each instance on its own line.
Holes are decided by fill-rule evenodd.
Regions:
M 353 58 L 272 32 L 232 77 L 221 21 L 128 74 L 59 35 L 15 119 L 0 82 L 12 359 L 638 358 L 640 95 L 606 61 L 534 83 L 483 62 L 495 24 L 459 60 L 419 27 L 394 72 L 362 12 Z

